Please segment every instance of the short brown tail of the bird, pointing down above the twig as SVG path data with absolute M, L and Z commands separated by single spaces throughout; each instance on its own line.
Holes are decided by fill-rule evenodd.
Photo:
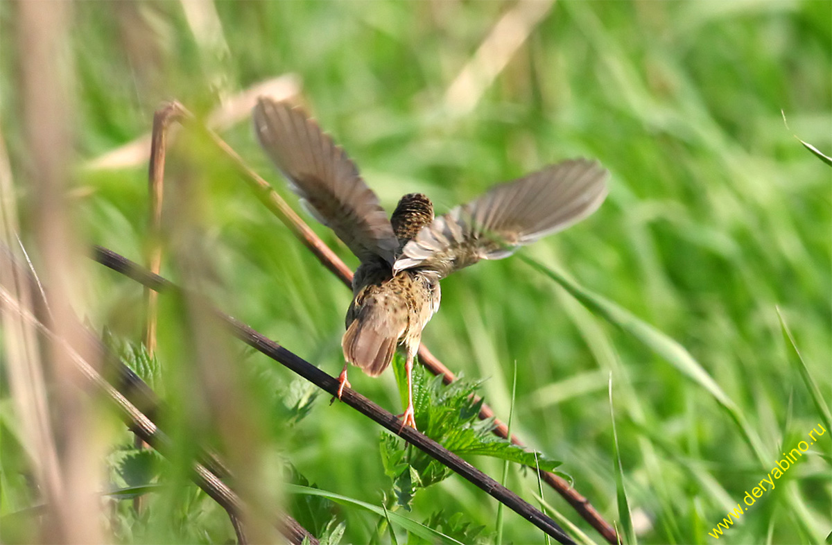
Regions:
M 344 358 L 371 377 L 387 369 L 406 325 L 403 320 L 396 320 L 395 316 L 382 311 L 383 302 L 376 299 L 378 297 L 364 302 L 341 339 Z

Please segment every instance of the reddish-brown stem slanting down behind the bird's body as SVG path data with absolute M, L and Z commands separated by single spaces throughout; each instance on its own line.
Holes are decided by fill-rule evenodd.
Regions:
M 330 270 L 351 289 L 353 272 L 347 265 L 344 264 L 344 261 L 341 260 L 339 256 L 336 255 L 334 251 L 331 250 L 329 246 L 327 246 L 324 241 L 314 233 L 314 230 L 312 230 L 309 225 L 306 225 L 305 221 L 302 220 L 288 204 L 286 204 L 286 201 L 280 197 L 268 181 L 265 181 L 262 176 L 258 175 L 245 163 L 245 161 L 243 161 L 243 159 L 231 148 L 231 146 L 225 143 L 225 141 L 223 141 L 214 131 L 206 128 L 206 126 L 202 126 L 194 122 L 194 117 L 190 113 L 187 113 L 181 104 L 178 102 L 176 104 L 177 107 L 181 107 L 182 111 L 186 112 L 186 115 L 182 117 L 182 121 L 188 122 L 197 130 L 205 131 L 207 136 L 209 136 L 210 141 L 214 142 L 214 144 L 229 157 L 243 181 L 245 181 L 245 183 L 255 192 L 255 196 L 257 196 L 260 202 L 262 202 L 266 208 L 269 209 L 269 211 L 277 216 L 277 218 L 289 228 L 295 237 L 300 240 L 300 242 L 303 243 L 303 245 L 305 245 L 315 255 L 315 257 L 318 258 L 324 267 Z M 434 356 L 424 344 L 419 346 L 418 359 L 425 367 L 428 368 L 428 370 L 430 370 L 431 373 L 442 375 L 443 382 L 445 384 L 450 384 L 457 379 L 456 375 L 453 374 L 453 372 L 451 372 L 451 370 L 448 369 L 436 356 Z M 480 398 L 476 397 L 476 399 L 479 401 Z M 508 439 L 520 447 L 525 446 L 516 435 L 512 434 L 511 437 L 509 437 L 508 426 L 503 421 L 496 418 L 493 409 L 491 409 L 488 404 L 482 404 L 479 418 L 493 418 L 494 424 L 496 425 L 493 429 L 493 434 L 498 435 L 498 437 Z M 607 540 L 607 542 L 613 544 L 618 543 L 618 536 L 615 528 L 612 528 L 612 525 L 607 523 L 601 513 L 598 513 L 596 508 L 592 506 L 592 503 L 590 503 L 589 500 L 587 500 L 587 498 L 581 493 L 578 493 L 566 479 L 555 473 L 547 471 L 540 471 L 539 473 L 541 478 L 549 486 L 554 488 L 557 493 L 559 493 L 562 498 L 564 498 L 567 503 L 569 503 L 572 508 L 574 508 L 577 513 L 592 526 L 592 528 L 595 528 L 597 532 Z

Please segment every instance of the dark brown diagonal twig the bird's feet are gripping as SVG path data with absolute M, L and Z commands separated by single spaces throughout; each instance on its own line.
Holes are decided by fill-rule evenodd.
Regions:
M 152 274 L 149 270 L 142 268 L 131 260 L 127 260 L 112 250 L 96 246 L 94 249 L 94 258 L 102 265 L 106 265 L 112 270 L 116 270 L 116 272 L 136 280 L 152 290 L 181 291 L 181 288 L 169 280 Z M 305 359 L 300 358 L 297 354 L 290 352 L 290 350 L 285 349 L 280 344 L 258 333 L 255 329 L 251 329 L 239 320 L 223 314 L 220 310 L 214 310 L 214 312 L 229 327 L 231 333 L 245 342 L 245 344 L 258 350 L 261 354 L 265 354 L 270 359 L 274 359 L 286 368 L 309 380 L 320 389 L 324 389 L 327 393 L 332 395 L 338 394 L 340 386 L 338 379 L 324 373 L 324 371 L 310 364 Z M 424 453 L 443 463 L 443 465 L 453 469 L 454 472 L 462 475 L 469 482 L 478 486 L 478 488 L 482 488 L 493 498 L 497 499 L 498 502 L 503 503 L 503 505 L 518 513 L 522 518 L 525 518 L 537 526 L 537 528 L 547 533 L 547 535 L 557 539 L 558 542 L 574 543 L 572 538 L 557 523 L 532 506 L 532 504 L 520 498 L 516 493 L 505 488 L 502 484 L 479 469 L 474 468 L 473 465 L 463 460 L 463 458 L 459 458 L 458 455 L 450 452 L 447 448 L 433 441 L 433 439 L 426 437 L 413 428 L 407 426 L 403 428 L 397 416 L 385 411 L 363 395 L 355 392 L 353 389 L 344 388 L 341 401 L 359 411 L 359 413 L 369 417 L 369 419 L 373 419 L 376 423 L 381 424 L 391 433 L 404 438 L 405 441 L 413 444 Z

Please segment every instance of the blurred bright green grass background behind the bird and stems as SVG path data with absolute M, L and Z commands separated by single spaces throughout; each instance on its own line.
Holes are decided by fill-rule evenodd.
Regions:
M 25 203 L 37 198 L 27 190 L 18 143 L 17 111 L 26 97 L 14 74 L 26 52 L 13 42 L 9 2 L 0 4 L 0 16 L 2 130 L 25 219 Z M 481 50 L 483 42 L 493 48 Z M 640 541 L 712 543 L 708 532 L 716 523 L 781 452 L 822 421 L 791 362 L 775 306 L 830 399 L 832 170 L 792 135 L 827 154 L 832 149 L 830 44 L 832 3 L 825 1 L 77 2 L 73 211 L 85 240 L 141 261 L 146 164 L 102 169 L 92 161 L 150 131 L 162 100 L 176 98 L 207 114 L 224 97 L 286 73 L 296 75 L 302 100 L 388 211 L 413 191 L 448 211 L 547 163 L 597 158 L 612 172 L 601 209 L 522 254 L 567 271 L 676 339 L 737 405 L 760 438 L 765 464 L 711 391 L 517 258 L 483 262 L 444 280 L 442 310 L 423 342 L 454 372 L 487 379 L 482 394 L 502 419 L 511 410 L 516 362 L 513 430 L 562 460 L 577 490 L 617 521 L 607 395 L 612 374 L 624 483 Z M 505 65 L 491 66 L 503 54 Z M 482 66 L 493 68 L 493 81 L 475 77 L 470 87 L 454 87 L 460 74 Z M 221 136 L 299 209 L 247 119 Z M 349 291 L 221 157 L 181 153 L 191 154 L 191 181 L 202 188 L 199 240 L 210 257 L 215 304 L 337 374 Z M 329 230 L 301 215 L 357 265 Z M 92 262 L 84 272 L 92 324 L 138 342 L 141 289 Z M 182 280 L 178 272 L 163 269 Z M 179 307 L 162 307 L 159 358 L 166 369 L 186 343 L 176 339 L 184 329 L 176 323 Z M 344 405 L 329 406 L 324 395 L 298 424 L 277 421 L 285 418 L 280 397 L 295 377 L 229 344 L 235 350 L 230 364 L 250 386 L 248 414 L 260 423 L 265 457 L 288 460 L 330 492 L 382 503 L 389 479 L 379 427 Z M 350 379 L 360 393 L 400 412 L 392 373 L 370 379 L 355 370 Z M 157 387 L 166 399 L 196 395 L 183 392 L 187 386 L 177 380 L 161 372 Z M 192 438 L 191 432 L 181 429 L 177 437 Z M 816 443 L 719 542 L 826 538 L 830 438 Z M 14 441 L 3 448 L 5 460 L 16 458 Z M 502 473 L 503 463 L 493 459 L 472 462 L 492 476 Z M 2 470 L 17 466 L 6 463 Z M 3 513 L 26 507 L 27 493 L 12 481 L 4 487 Z M 507 484 L 534 502 L 532 473 L 512 468 Z M 117 539 L 233 538 L 210 501 L 193 485 L 182 486 L 191 492 L 151 495 L 147 520 L 134 521 L 122 505 L 119 516 L 133 530 L 119 529 Z M 545 495 L 602 542 L 556 493 Z M 493 541 L 497 505 L 463 479 L 423 490 L 405 514 L 425 520 L 438 508 L 485 526 L 485 540 Z M 213 515 L 196 517 L 195 510 Z M 373 539 L 376 517 L 354 508 L 337 514 L 346 521 L 344 543 Z M 510 512 L 503 538 L 543 540 Z M 382 541 L 388 539 L 385 534 Z

